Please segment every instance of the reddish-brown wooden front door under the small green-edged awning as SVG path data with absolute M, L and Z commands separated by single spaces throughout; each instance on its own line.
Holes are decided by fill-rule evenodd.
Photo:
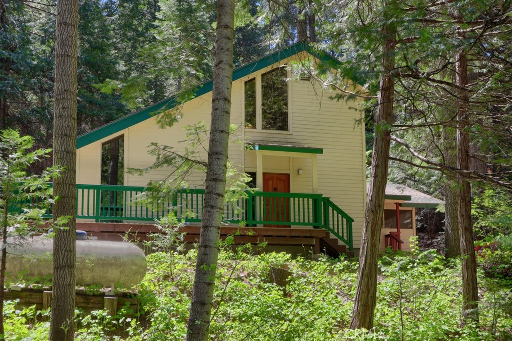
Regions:
M 289 174 L 263 174 L 263 191 L 270 193 L 290 193 Z M 290 199 L 265 198 L 265 220 L 272 222 L 290 221 Z M 290 227 L 290 225 L 265 225 L 265 227 Z

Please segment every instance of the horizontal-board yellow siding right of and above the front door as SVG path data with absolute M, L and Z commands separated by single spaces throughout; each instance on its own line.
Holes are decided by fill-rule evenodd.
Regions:
M 357 104 L 329 99 L 333 95 L 315 82 L 291 81 L 291 132 L 246 130 L 245 134 L 255 142 L 324 148 L 324 154 L 318 155 L 318 193 L 354 218 L 354 247 L 359 248 L 366 204 L 365 129 L 356 124 L 361 112 L 350 110 Z M 265 172 L 271 167 L 264 162 Z M 299 168 L 302 176 L 296 175 Z M 310 159 L 293 158 L 292 191 L 312 192 L 307 183 L 310 172 Z

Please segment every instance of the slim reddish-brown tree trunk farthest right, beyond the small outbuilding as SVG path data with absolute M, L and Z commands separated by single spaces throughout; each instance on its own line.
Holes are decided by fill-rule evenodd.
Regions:
M 467 109 L 469 95 L 467 87 L 467 57 L 457 53 L 456 83 L 459 86 L 457 102 L 457 167 L 463 171 L 470 170 L 470 136 L 467 132 L 469 112 Z M 471 217 L 471 183 L 458 175 L 459 186 L 459 234 L 462 257 L 462 314 L 464 323 L 478 323 L 478 280 L 475 241 L 473 238 L 473 220 Z

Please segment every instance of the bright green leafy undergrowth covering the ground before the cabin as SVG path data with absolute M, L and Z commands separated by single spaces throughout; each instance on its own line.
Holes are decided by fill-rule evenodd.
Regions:
M 182 340 L 194 282 L 196 251 L 148 257 L 150 271 L 138 287 L 143 316 L 78 314 L 79 340 Z M 270 272 L 289 271 L 285 289 Z M 460 261 L 433 252 L 385 254 L 379 262 L 375 328 L 348 329 L 357 263 L 317 262 L 289 255 L 221 253 L 211 323 L 215 340 L 508 340 L 512 338 L 509 283 L 479 273 L 481 328 L 461 328 Z M 8 305 L 7 339 L 42 340 L 48 323 L 35 310 Z M 121 332 L 122 331 L 122 332 Z

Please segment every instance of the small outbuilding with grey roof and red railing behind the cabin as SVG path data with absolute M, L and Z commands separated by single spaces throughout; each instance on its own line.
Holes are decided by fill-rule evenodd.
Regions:
M 416 208 L 437 208 L 441 204 L 443 201 L 420 191 L 389 183 L 386 186 L 380 250 L 383 251 L 387 247 L 391 247 L 411 251 L 409 240 L 411 237 L 416 237 Z

